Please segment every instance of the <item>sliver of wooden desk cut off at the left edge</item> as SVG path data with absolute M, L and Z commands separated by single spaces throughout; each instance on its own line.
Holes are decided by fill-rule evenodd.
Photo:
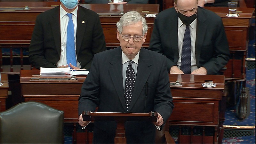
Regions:
M 1 83 L 3 85 L 0 86 L 0 112 L 6 110 L 6 99 L 8 98 L 8 75 L 1 74 Z

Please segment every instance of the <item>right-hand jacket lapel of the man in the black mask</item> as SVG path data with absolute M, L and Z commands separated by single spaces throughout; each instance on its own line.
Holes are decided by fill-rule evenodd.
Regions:
M 205 17 L 204 15 L 200 14 L 201 9 L 198 7 L 198 12 L 197 12 L 197 24 L 196 24 L 196 46 L 195 46 L 195 51 L 196 51 L 196 65 L 198 66 L 199 60 L 200 60 L 200 53 L 202 44 L 204 43 L 204 36 L 206 33 L 206 24 L 205 22 Z

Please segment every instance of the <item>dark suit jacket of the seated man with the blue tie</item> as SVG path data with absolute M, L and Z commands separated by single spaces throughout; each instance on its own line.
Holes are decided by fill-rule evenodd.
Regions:
M 36 17 L 29 46 L 29 61 L 35 68 L 57 67 L 60 60 L 60 6 Z M 106 50 L 105 36 L 97 13 L 78 6 L 76 56 L 81 68 L 90 69 L 95 53 Z

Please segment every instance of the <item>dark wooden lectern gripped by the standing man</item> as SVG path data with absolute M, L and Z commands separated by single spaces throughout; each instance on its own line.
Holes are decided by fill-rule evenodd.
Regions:
M 157 121 L 157 112 L 149 113 L 104 113 L 83 111 L 84 121 L 116 121 L 115 143 L 126 143 L 124 122 L 126 121 Z

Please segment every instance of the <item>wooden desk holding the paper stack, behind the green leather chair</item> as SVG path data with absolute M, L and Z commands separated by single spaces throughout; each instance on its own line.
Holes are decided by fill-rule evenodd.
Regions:
M 40 70 L 20 71 L 21 94 L 25 101 L 38 101 L 63 110 L 65 122 L 77 123 L 78 97 L 86 76 L 76 76 L 76 80 L 54 79 L 58 77 L 47 77 L 50 78 L 49 80 L 31 80 L 36 77 L 33 75 L 40 75 Z

